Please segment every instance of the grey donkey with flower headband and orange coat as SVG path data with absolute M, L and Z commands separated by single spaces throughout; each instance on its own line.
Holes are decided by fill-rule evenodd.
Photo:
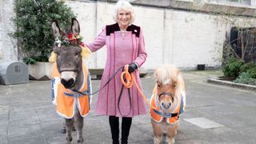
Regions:
M 83 142 L 83 117 L 90 111 L 90 74 L 83 62 L 82 51 L 86 49 L 79 37 L 78 20 L 72 18 L 71 32 L 66 34 L 58 22 L 53 21 L 51 29 L 54 34 L 54 66 L 52 72 L 53 100 L 57 113 L 65 118 L 66 142 L 72 141 L 72 128 L 77 130 L 77 141 Z M 52 55 L 53 56 L 53 55 Z

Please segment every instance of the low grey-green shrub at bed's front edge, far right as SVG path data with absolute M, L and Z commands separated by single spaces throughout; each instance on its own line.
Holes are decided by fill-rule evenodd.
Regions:
M 234 80 L 235 83 L 244 83 L 249 85 L 256 85 L 256 78 L 252 78 L 249 72 L 243 72 L 239 75 L 237 79 Z

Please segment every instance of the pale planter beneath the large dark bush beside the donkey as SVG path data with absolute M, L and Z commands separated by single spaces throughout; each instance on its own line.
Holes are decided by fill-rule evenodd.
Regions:
M 52 66 L 51 62 L 37 62 L 34 65 L 29 65 L 30 80 L 50 80 Z

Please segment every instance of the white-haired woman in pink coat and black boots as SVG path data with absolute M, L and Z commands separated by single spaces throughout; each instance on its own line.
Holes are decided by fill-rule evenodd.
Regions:
M 86 43 L 91 51 L 106 45 L 106 66 L 102 74 L 101 87 L 122 66 L 129 64 L 129 72 L 133 73 L 138 85 L 142 88 L 138 67 L 146 61 L 146 50 L 142 29 L 132 25 L 134 7 L 124 0 L 118 1 L 115 7 L 113 25 L 105 26 L 94 42 Z M 96 114 L 109 115 L 113 143 L 119 143 L 119 117 L 122 117 L 122 143 L 128 142 L 132 118 L 134 115 L 146 114 L 142 95 L 136 86 L 130 89 L 122 86 L 119 70 L 98 94 Z

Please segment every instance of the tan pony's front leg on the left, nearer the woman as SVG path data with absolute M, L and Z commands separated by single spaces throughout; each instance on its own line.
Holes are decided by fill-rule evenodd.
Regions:
M 154 122 L 154 120 L 151 119 L 151 124 L 154 130 L 154 144 L 160 144 L 162 141 L 162 122 Z

